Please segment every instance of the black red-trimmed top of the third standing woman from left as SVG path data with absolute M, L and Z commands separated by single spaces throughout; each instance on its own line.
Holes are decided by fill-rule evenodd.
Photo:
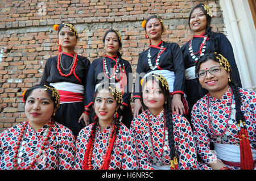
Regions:
M 163 43 L 163 50 L 162 52 L 159 53 L 161 44 Z M 175 93 L 183 93 L 183 88 L 184 88 L 184 64 L 183 64 L 183 57 L 182 57 L 182 52 L 180 49 L 180 46 L 176 43 L 167 43 L 164 41 L 160 41 L 160 43 L 156 46 L 150 45 L 151 50 L 151 63 L 153 66 L 155 66 L 155 62 L 159 53 L 160 59 L 159 59 L 159 65 L 155 70 L 170 70 L 174 71 L 175 73 L 175 81 L 174 81 L 174 91 L 173 94 Z M 150 69 L 150 66 L 148 65 L 148 50 L 145 50 L 141 54 L 139 54 L 139 60 L 138 60 L 138 65 L 137 65 L 137 75 L 135 78 L 135 87 L 139 85 L 139 91 L 134 89 L 134 95 L 133 98 L 141 98 L 141 79 L 143 78 L 142 75 L 139 76 L 138 74 L 141 73 L 148 73 L 152 71 Z

